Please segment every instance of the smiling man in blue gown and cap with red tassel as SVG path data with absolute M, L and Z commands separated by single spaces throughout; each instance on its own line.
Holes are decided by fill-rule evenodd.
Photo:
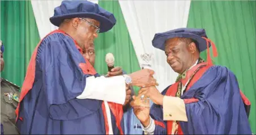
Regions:
M 153 46 L 166 53 L 167 62 L 179 73 L 176 82 L 159 93 L 154 86 L 140 89 L 151 109 L 134 106 L 147 134 L 251 134 L 249 100 L 239 89 L 235 74 L 212 65 L 217 51 L 204 29 L 181 28 L 155 34 Z M 199 52 L 207 50 L 207 62 Z M 247 113 L 247 115 L 246 115 Z

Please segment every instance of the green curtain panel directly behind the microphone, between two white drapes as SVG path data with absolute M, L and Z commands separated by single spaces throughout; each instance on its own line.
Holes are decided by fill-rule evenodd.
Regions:
M 114 14 L 116 25 L 110 31 L 99 34 L 95 41 L 97 72 L 102 75 L 107 73 L 105 56 L 109 52 L 115 57 L 115 66 L 121 66 L 127 74 L 140 70 L 119 2 L 99 1 L 99 6 Z M 135 91 L 137 92 L 138 88 L 135 88 Z

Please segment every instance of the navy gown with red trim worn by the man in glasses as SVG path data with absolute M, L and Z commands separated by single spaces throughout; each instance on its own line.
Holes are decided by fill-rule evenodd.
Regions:
M 16 110 L 21 134 L 106 134 L 103 102 L 76 98 L 87 77 L 99 76 L 86 61 L 75 40 L 61 30 L 38 44 Z M 114 134 L 120 134 L 112 111 L 111 118 Z

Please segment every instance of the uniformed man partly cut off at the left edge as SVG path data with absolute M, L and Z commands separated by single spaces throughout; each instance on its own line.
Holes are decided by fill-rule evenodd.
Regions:
M 1 73 L 5 62 L 3 61 L 4 46 L 1 44 Z M 15 109 L 19 102 L 19 86 L 1 77 L 1 134 L 19 134 L 15 126 Z

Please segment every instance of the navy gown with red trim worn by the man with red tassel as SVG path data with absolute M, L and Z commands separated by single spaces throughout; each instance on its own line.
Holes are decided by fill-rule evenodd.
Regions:
M 176 133 L 251 134 L 246 115 L 250 102 L 242 95 L 235 75 L 223 66 L 211 66 L 197 74 L 196 80 L 181 96 L 188 122 L 179 122 Z M 177 83 L 164 89 L 162 94 L 167 95 L 170 91 L 175 94 L 175 86 Z M 155 120 L 154 134 L 171 133 L 172 121 L 163 121 L 162 106 L 151 106 L 150 116 Z

